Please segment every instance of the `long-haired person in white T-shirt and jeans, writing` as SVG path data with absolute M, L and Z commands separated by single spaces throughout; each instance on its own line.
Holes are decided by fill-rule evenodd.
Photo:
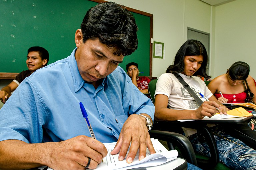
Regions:
M 214 97 L 199 77 L 194 76 L 201 75 L 210 78 L 206 73 L 208 61 L 206 49 L 200 41 L 187 40 L 180 47 L 170 72 L 162 74 L 157 80 L 154 103 L 155 120 L 203 119 L 205 116 L 212 117 L 218 112 L 227 114 L 228 109 Z M 180 77 L 192 92 L 187 85 L 181 83 Z M 171 126 L 170 122 L 154 125 L 156 129 L 166 129 L 168 126 Z M 221 126 L 209 126 L 213 132 L 221 162 L 231 169 L 255 168 L 256 151 L 254 149 L 226 134 Z M 174 128 L 177 129 L 177 127 Z M 197 135 L 196 130 L 189 128 L 183 128 L 183 130 L 194 149 L 210 157 L 208 144 Z

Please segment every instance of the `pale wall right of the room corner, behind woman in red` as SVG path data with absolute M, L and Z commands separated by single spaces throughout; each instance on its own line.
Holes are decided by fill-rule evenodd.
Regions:
M 256 78 L 255 8 L 255 0 L 236 0 L 216 7 L 214 75 L 226 73 L 236 61 L 244 61 Z

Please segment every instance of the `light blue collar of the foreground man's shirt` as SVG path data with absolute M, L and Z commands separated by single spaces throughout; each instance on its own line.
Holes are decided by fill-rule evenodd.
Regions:
M 70 67 L 70 71 L 71 71 L 71 75 L 73 77 L 73 81 L 74 81 L 74 87 L 75 87 L 75 92 L 77 92 L 78 90 L 80 90 L 84 83 L 86 83 L 82 76 L 79 73 L 78 67 L 77 67 L 77 62 L 75 59 L 75 52 L 77 50 L 77 47 L 73 50 L 73 52 L 71 53 L 71 55 L 69 56 L 69 67 Z M 102 81 L 102 85 L 106 85 L 107 87 L 107 83 L 108 83 L 108 79 L 107 77 L 105 77 Z

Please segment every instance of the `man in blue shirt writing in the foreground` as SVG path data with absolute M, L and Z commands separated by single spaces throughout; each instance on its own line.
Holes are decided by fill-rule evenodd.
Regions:
M 139 160 L 147 147 L 155 153 L 147 124 L 155 108 L 118 66 L 137 49 L 136 32 L 132 14 L 116 3 L 86 13 L 71 55 L 24 79 L 1 109 L 0 169 L 95 169 L 107 154 L 101 142 L 117 142 L 111 154 L 127 163 L 138 149 Z

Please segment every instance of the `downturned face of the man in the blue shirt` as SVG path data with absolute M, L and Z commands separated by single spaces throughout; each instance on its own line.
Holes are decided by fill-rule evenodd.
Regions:
M 76 38 L 75 58 L 79 73 L 85 81 L 95 82 L 106 77 L 123 61 L 123 55 L 113 54 L 115 48 L 109 48 L 98 39 L 88 39 L 83 43 L 80 38 Z

